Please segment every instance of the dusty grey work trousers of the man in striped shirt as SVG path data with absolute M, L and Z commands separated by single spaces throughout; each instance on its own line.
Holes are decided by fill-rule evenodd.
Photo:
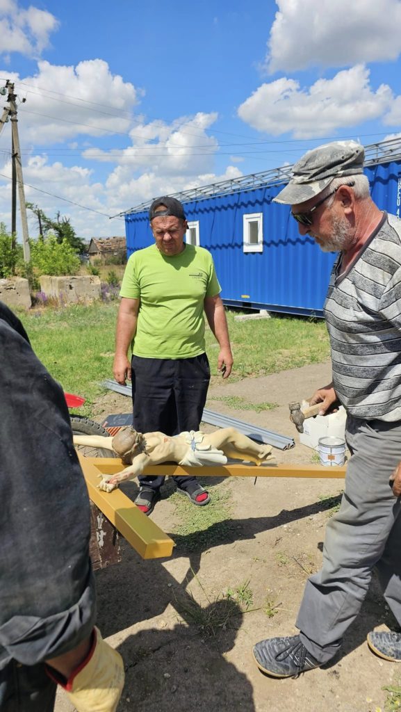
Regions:
M 374 566 L 401 624 L 401 503 L 389 486 L 401 461 L 401 422 L 348 416 L 345 437 L 351 457 L 343 499 L 326 528 L 323 567 L 308 579 L 296 620 L 301 641 L 322 664 L 358 615 Z

